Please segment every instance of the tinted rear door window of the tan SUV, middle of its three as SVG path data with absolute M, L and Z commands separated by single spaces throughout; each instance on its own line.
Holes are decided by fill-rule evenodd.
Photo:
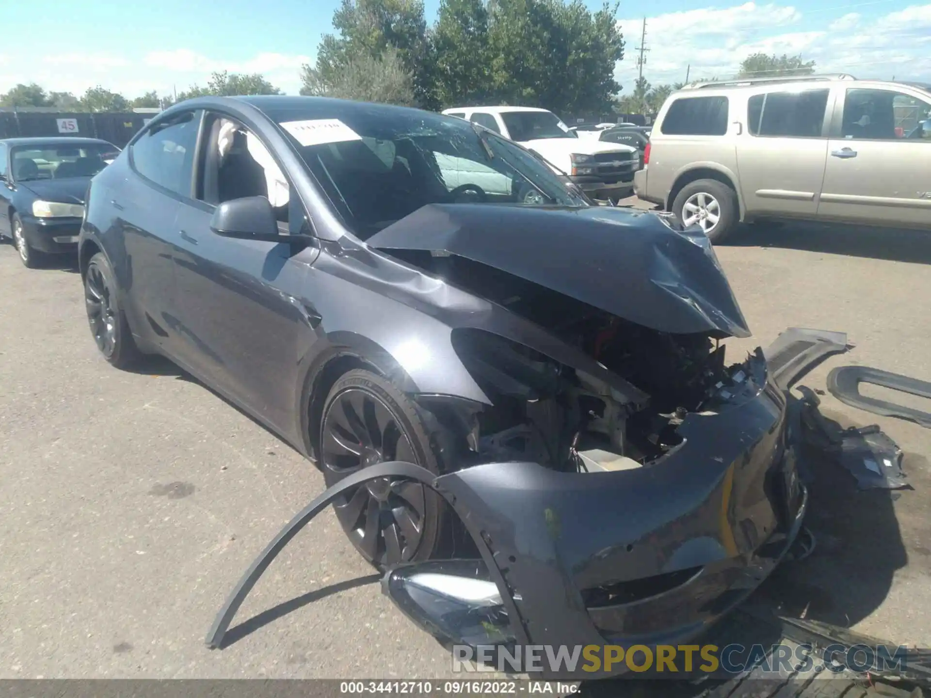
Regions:
M 828 89 L 768 92 L 747 102 L 750 135 L 818 138 L 828 108 Z

